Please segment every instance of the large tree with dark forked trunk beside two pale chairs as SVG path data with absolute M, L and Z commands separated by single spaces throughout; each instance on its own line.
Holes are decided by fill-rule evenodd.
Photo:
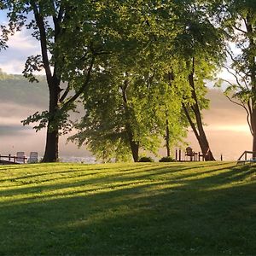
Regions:
M 118 27 L 114 16 L 119 10 L 114 1 L 108 4 L 95 1 L 65 0 L 2 0 L 8 9 L 9 27 L 32 30 L 41 46 L 41 55 L 30 56 L 24 75 L 36 81 L 34 71 L 44 68 L 49 88 L 49 110 L 34 113 L 24 125 L 39 121 L 37 130 L 47 126 L 44 162 L 58 159 L 58 139 L 61 129 L 68 131 L 68 112 L 89 86 L 93 75 L 101 75 L 106 55 L 114 48 Z M 33 18 L 30 20 L 31 15 Z M 73 39 L 72 39 L 73 38 Z M 104 62 L 105 61 L 105 62 Z

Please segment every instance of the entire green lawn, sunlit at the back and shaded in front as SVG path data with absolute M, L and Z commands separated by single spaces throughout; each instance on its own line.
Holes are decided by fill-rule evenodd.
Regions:
M 0 255 L 255 255 L 256 166 L 0 166 Z

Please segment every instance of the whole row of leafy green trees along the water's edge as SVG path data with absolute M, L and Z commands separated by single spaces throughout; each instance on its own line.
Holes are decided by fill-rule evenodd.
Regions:
M 188 125 L 205 159 L 214 160 L 201 111 L 208 107 L 206 82 L 226 55 L 239 75 L 230 88 L 244 108 L 247 104 L 256 134 L 252 1 L 0 3 L 9 18 L 9 25 L 1 26 L 0 49 L 24 26 L 41 47 L 41 55 L 28 56 L 23 74 L 35 82 L 34 71 L 45 70 L 49 109 L 23 123 L 47 127 L 44 161 L 57 160 L 58 138 L 71 129 L 69 113 L 79 100 L 84 118 L 72 139 L 105 160 L 132 155 L 137 161 L 140 148 L 156 154 L 163 139 L 169 155 L 170 143 L 182 141 Z M 227 41 L 241 54 L 232 55 Z

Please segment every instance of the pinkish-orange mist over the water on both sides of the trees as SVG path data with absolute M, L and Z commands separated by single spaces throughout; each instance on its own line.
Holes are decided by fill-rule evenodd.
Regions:
M 0 81 L 1 82 L 1 81 Z M 252 137 L 249 132 L 244 111 L 223 96 L 218 90 L 208 94 L 211 108 L 204 111 L 204 122 L 212 152 L 217 160 L 223 154 L 224 160 L 237 160 L 244 150 L 251 150 Z M 46 108 L 46 106 L 45 106 Z M 36 111 L 35 106 L 23 106 L 14 102 L 0 102 L 0 154 L 15 154 L 17 151 L 38 151 L 44 154 L 45 130 L 35 132 L 30 126 L 22 126 L 20 120 Z M 201 151 L 192 131 L 187 138 L 195 152 Z M 162 155 L 166 150 L 160 150 Z M 73 160 L 73 157 L 91 157 L 85 148 L 77 148 L 67 143 L 67 136 L 60 140 L 60 157 L 62 160 Z

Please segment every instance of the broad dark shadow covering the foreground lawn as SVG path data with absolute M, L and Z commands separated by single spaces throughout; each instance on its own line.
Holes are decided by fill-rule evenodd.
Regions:
M 170 174 L 167 168 L 160 167 L 155 175 Z M 115 183 L 114 177 L 106 183 L 104 178 L 91 178 L 89 183 L 49 185 L 60 192 L 71 189 L 64 191 L 67 196 L 62 198 L 47 195 L 37 201 L 22 201 L 21 196 L 18 202 L 10 198 L 8 205 L 0 206 L 0 254 L 253 254 L 255 182 L 229 187 L 239 169 L 224 170 L 216 174 L 212 167 L 198 172 L 195 179 L 195 173 L 188 179 L 184 171 L 177 178 L 167 175 L 153 183 L 148 183 L 152 172 L 148 179 L 144 174 L 136 179 L 119 177 L 120 183 Z M 242 172 L 247 172 L 245 177 L 253 174 Z M 88 184 L 96 185 L 97 190 L 89 191 Z M 222 184 L 228 188 L 214 189 Z M 78 186 L 84 195 L 78 195 Z M 26 191 L 31 188 L 23 189 L 11 192 L 33 193 Z M 86 194 L 86 189 L 90 193 Z

